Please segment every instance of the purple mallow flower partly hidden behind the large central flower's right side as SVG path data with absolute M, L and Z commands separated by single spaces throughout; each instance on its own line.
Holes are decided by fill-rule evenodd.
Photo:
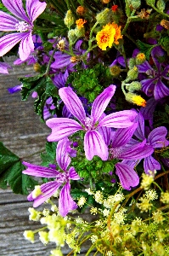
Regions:
M 153 148 L 146 144 L 146 140 L 142 143 L 127 145 L 137 127 L 138 123 L 116 131 L 108 131 L 106 127 L 104 129 L 100 128 L 110 148 L 110 159 L 122 160 L 115 164 L 115 174 L 119 177 L 123 189 L 127 190 L 130 190 L 131 187 L 136 187 L 139 183 L 138 174 L 133 169 L 135 160 L 141 160 L 153 153 Z M 130 165 L 127 164 L 127 160 L 130 160 Z M 134 165 L 132 165 L 132 162 Z

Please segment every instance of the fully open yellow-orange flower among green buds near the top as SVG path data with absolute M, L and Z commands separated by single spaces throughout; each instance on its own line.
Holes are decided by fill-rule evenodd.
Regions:
M 102 50 L 106 50 L 108 46 L 111 48 L 112 44 L 119 44 L 117 41 L 119 38 L 122 38 L 121 26 L 114 22 L 103 26 L 103 29 L 96 35 L 97 44 Z

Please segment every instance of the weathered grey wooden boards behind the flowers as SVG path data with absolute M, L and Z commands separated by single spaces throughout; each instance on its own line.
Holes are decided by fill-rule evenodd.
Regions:
M 21 102 L 20 92 L 10 95 L 7 90 L 20 84 L 18 77 L 31 74 L 32 67 L 14 66 L 12 57 L 5 60 L 13 66 L 13 70 L 8 75 L 0 74 L 0 141 L 23 160 L 39 164 L 39 154 L 31 159 L 25 156 L 44 148 L 51 130 L 34 113 L 31 97 L 27 102 Z M 0 256 L 48 256 L 55 248 L 54 243 L 45 247 L 38 235 L 33 244 L 25 240 L 24 230 L 42 227 L 37 222 L 29 221 L 28 207 L 32 207 L 32 202 L 26 200 L 26 195 L 14 195 L 10 189 L 0 189 Z M 69 251 L 68 247 L 63 249 L 65 255 Z M 79 255 L 84 255 L 86 251 L 87 246 L 82 247 Z

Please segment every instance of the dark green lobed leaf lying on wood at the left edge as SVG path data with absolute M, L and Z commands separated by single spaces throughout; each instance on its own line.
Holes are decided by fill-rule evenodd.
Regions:
M 15 194 L 27 195 L 28 189 L 34 189 L 37 181 L 22 173 L 25 166 L 20 158 L 0 143 L 0 188 L 9 185 Z

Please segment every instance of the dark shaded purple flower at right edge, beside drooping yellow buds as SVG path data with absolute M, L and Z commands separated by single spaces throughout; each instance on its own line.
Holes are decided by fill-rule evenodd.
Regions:
M 140 83 L 142 84 L 142 90 L 147 96 L 155 96 L 155 100 L 169 95 L 169 89 L 162 82 L 163 79 L 169 80 L 167 73 L 169 71 L 169 65 L 164 69 L 162 63 L 158 61 L 158 57 L 164 55 L 164 51 L 160 46 L 156 46 L 151 51 L 152 59 L 155 63 L 155 68 L 149 65 L 148 61 L 144 61 L 143 64 L 138 65 L 139 73 L 146 73 L 148 78 L 143 79 Z

